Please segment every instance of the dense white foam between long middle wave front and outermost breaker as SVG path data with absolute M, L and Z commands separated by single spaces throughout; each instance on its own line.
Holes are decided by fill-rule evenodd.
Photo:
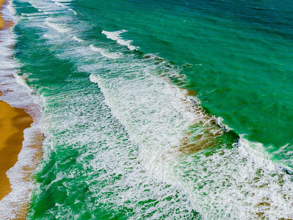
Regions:
M 183 187 L 193 208 L 207 219 L 254 218 L 259 212 L 269 219 L 292 217 L 292 198 L 284 199 L 287 193 L 292 194 L 290 175 L 245 139 L 239 140 L 238 147 L 236 143 L 232 149 L 224 145 L 211 156 L 201 152 L 196 153 L 197 160 L 178 160 L 175 146 L 183 138 L 182 131 L 197 121 L 195 116 L 188 116 L 185 104 L 172 96 L 168 84 L 161 86 L 159 79 L 133 71 L 135 77 L 130 77 L 130 72 L 123 76 L 122 69 L 120 77 L 92 74 L 90 80 L 98 83 L 113 115 L 141 147 L 147 170 L 157 179 Z M 286 187 L 279 184 L 280 178 Z M 268 210 L 264 202 L 274 209 Z

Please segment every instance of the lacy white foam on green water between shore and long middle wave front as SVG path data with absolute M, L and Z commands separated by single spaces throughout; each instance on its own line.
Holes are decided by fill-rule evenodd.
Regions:
M 153 219 L 160 219 L 168 214 L 176 218 L 190 216 L 192 208 L 184 193 L 175 186 L 156 180 L 145 170 L 138 146 L 111 115 L 103 101 L 103 94 L 96 85 L 88 82 L 86 87 L 72 90 L 81 83 L 85 83 L 84 79 L 73 79 L 63 88 L 74 99 L 56 97 L 50 94 L 53 91 L 48 91 L 46 95 L 42 127 L 44 133 L 51 136 L 43 143 L 45 154 L 63 150 L 72 154 L 67 160 L 58 161 L 53 169 L 59 169 L 61 163 L 74 163 L 70 169 L 58 170 L 56 177 L 45 188 L 52 187 L 56 181 L 62 181 L 62 185 L 71 195 L 73 193 L 78 196 L 84 190 L 84 186 L 79 188 L 79 184 L 86 183 L 90 193 L 82 203 L 88 208 L 74 212 L 70 205 L 58 202 L 50 210 L 52 215 L 65 219 L 70 219 L 73 215 L 81 218 L 85 211 L 95 213 L 95 210 L 101 208 L 92 205 L 93 203 L 101 203 L 105 210 L 115 209 L 123 204 L 123 207 L 132 210 L 133 219 L 143 218 L 149 212 L 152 212 Z M 50 104 L 60 107 L 50 108 Z M 92 111 L 88 111 L 89 109 Z M 80 114 L 78 117 L 76 112 Z M 68 128 L 73 130 L 69 131 Z M 76 152 L 79 152 L 77 156 Z M 45 158 L 42 166 L 49 160 L 50 157 Z M 63 176 L 66 178 L 62 179 Z M 80 176 L 84 182 L 76 181 Z M 100 184 L 102 182 L 107 184 Z M 40 187 L 43 189 L 44 186 Z M 75 203 L 79 201 L 76 200 Z

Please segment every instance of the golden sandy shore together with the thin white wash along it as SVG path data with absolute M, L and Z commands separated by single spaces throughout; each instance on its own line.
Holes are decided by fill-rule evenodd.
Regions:
M 0 31 L 10 31 L 15 25 L 14 21 L 2 18 L 1 9 L 6 4 L 9 2 L 0 0 Z M 11 55 L 9 57 L 13 59 Z M 17 82 L 11 70 L 2 76 Z M 6 79 L 3 82 L 0 81 L 0 216 L 25 220 L 33 189 L 33 171 L 42 158 L 42 111 L 25 88 L 11 86 L 11 91 L 7 92 Z M 16 97 L 22 100 L 20 104 Z

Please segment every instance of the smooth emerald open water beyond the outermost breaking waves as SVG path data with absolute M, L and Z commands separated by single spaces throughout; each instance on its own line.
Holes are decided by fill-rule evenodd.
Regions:
M 129 30 L 123 36 L 143 53 L 192 64 L 182 73 L 203 106 L 250 140 L 279 148 L 292 145 L 290 5 L 92 1 L 81 3 L 81 17 L 91 20 L 96 31 Z

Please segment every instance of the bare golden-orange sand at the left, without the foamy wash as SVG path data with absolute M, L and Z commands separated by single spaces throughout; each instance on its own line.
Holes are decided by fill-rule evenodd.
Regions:
M 0 0 L 0 5 L 4 3 Z M 5 21 L 0 16 L 0 29 Z M 8 25 L 9 26 L 9 25 Z M 0 85 L 1 89 L 1 85 Z M 1 94 L 0 94 L 1 95 Z M 24 109 L 13 108 L 0 100 L 0 200 L 11 192 L 7 170 L 14 166 L 24 140 L 23 130 L 33 123 L 32 117 Z

